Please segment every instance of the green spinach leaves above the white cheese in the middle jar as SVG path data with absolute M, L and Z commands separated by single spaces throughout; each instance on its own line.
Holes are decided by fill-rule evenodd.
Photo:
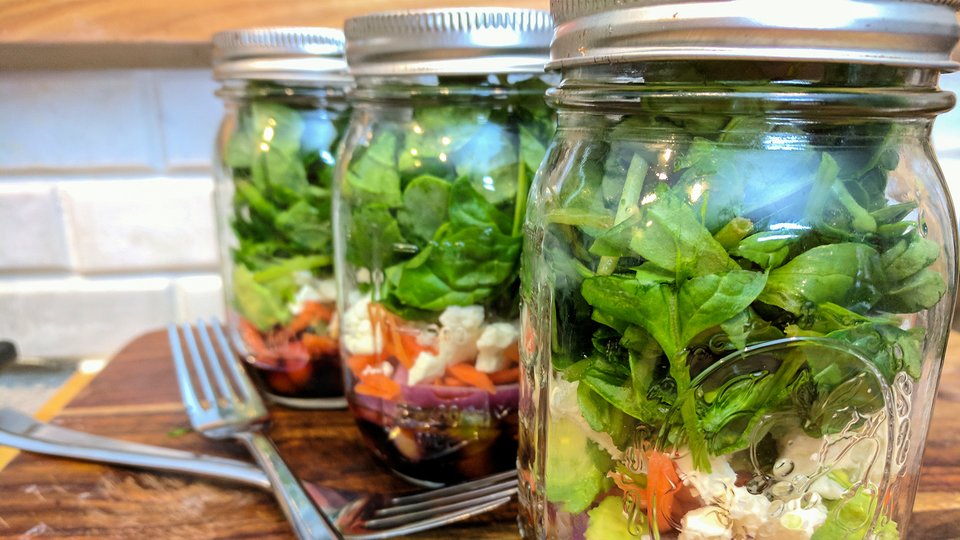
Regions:
M 385 272 L 394 313 L 515 304 L 527 191 L 554 121 L 545 83 L 512 86 L 522 94 L 505 103 L 417 107 L 351 158 L 348 260 Z

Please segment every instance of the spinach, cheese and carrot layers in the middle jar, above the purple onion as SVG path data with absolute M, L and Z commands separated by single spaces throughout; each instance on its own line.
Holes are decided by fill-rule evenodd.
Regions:
M 355 360 L 354 370 L 364 383 L 361 393 L 395 396 L 404 383 L 490 388 L 516 381 L 510 362 L 517 331 L 488 327 L 517 319 L 526 197 L 554 120 L 541 79 L 498 87 L 482 97 L 415 101 L 409 118 L 376 121 L 349 157 L 341 184 L 346 261 L 351 275 L 367 276 L 357 286 L 371 295 L 376 313 L 385 310 L 372 320 L 350 317 L 345 325 L 348 344 L 362 333 L 353 322 L 386 336 L 376 351 L 365 344 L 348 351 L 364 358 Z M 425 332 L 428 324 L 437 326 L 437 339 Z M 403 345 L 391 338 L 395 332 L 422 335 Z M 478 363 L 484 332 L 492 349 Z M 463 343 L 455 345 L 453 334 Z M 359 367 L 385 361 L 406 373 L 388 382 Z M 454 364 L 466 366 L 447 373 Z M 470 368 L 475 372 L 467 375 Z M 377 390 L 367 380 L 373 375 Z

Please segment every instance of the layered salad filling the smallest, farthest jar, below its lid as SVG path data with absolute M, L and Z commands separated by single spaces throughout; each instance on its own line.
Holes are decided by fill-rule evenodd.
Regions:
M 232 323 L 275 401 L 321 406 L 343 395 L 330 198 L 346 115 L 309 90 L 250 84 L 258 97 L 239 105 L 221 151 L 233 187 Z

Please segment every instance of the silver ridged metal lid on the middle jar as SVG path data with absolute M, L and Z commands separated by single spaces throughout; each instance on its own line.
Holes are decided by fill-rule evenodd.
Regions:
M 344 33 L 354 75 L 540 73 L 553 20 L 535 9 L 394 11 L 347 19 Z

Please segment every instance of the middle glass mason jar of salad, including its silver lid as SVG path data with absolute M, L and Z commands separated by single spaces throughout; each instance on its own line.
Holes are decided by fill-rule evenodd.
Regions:
M 515 466 L 518 268 L 555 124 L 551 28 L 546 12 L 514 9 L 345 26 L 357 80 L 334 198 L 346 394 L 368 447 L 408 480 Z

